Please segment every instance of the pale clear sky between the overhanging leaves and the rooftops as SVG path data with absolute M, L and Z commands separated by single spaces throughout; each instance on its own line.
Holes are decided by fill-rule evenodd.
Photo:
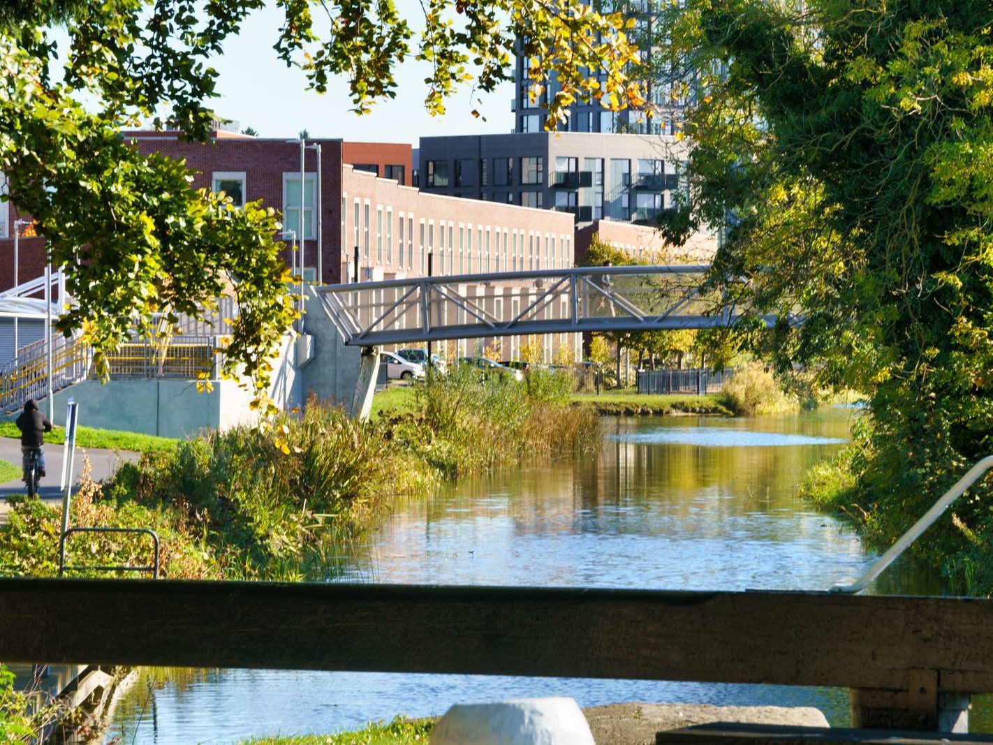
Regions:
M 419 4 L 412 0 L 400 0 L 397 6 L 412 25 L 421 13 Z M 312 137 L 408 142 L 415 147 L 421 136 L 489 134 L 513 128 L 512 83 L 483 97 L 480 110 L 487 121 L 472 116 L 478 96 L 468 86 L 447 101 L 443 116 L 431 116 L 424 109 L 428 69 L 411 59 L 398 71 L 396 98 L 375 104 L 369 114 L 352 113 L 347 80 L 332 81 L 324 94 L 308 91 L 304 75 L 276 59 L 272 45 L 280 18 L 271 7 L 255 11 L 241 34 L 227 40 L 223 57 L 213 63 L 219 73 L 220 94 L 213 108 L 224 118 L 238 121 L 242 128 L 254 127 L 262 137 L 287 138 L 306 128 Z

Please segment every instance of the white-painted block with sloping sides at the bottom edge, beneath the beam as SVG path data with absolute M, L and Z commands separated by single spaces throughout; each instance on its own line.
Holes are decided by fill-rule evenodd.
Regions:
M 594 745 L 572 698 L 460 703 L 431 731 L 431 745 Z

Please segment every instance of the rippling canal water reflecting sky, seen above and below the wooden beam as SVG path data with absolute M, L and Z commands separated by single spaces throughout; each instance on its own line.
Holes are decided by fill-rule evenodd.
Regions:
M 822 590 L 874 560 L 851 526 L 795 497 L 849 438 L 858 409 L 783 416 L 613 417 L 598 453 L 466 480 L 397 507 L 347 557 L 344 581 L 670 590 Z M 870 591 L 940 594 L 895 566 Z M 329 640 L 334 644 L 334 640 Z M 311 671 L 144 671 L 118 706 L 124 743 L 232 743 L 330 733 L 460 701 L 567 695 L 809 705 L 848 723 L 847 691 L 633 680 Z M 980 717 L 982 719 L 983 717 Z M 976 721 L 973 717 L 974 722 Z

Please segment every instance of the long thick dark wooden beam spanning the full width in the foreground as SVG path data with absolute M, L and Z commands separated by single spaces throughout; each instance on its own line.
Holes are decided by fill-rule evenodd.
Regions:
M 993 691 L 993 602 L 0 579 L 0 660 Z

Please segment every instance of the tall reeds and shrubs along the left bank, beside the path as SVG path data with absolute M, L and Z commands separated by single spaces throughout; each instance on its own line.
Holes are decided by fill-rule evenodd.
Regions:
M 464 369 L 414 388 L 405 414 L 361 423 L 312 401 L 268 427 L 207 432 L 120 466 L 112 481 L 83 479 L 71 524 L 151 527 L 171 578 L 321 579 L 372 519 L 396 499 L 440 480 L 593 447 L 596 414 L 569 405 L 569 381 L 481 380 Z M 12 500 L 0 526 L 0 573 L 53 575 L 59 511 Z M 71 563 L 147 564 L 147 538 L 87 535 Z M 105 575 L 104 575 L 105 576 Z

